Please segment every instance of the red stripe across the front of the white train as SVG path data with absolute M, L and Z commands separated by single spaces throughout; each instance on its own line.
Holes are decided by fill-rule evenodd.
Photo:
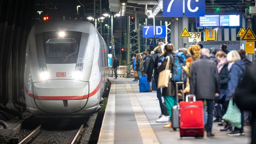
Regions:
M 93 96 L 99 89 L 101 81 L 99 81 L 97 87 L 89 93 L 89 97 Z M 33 95 L 28 89 L 25 87 L 25 92 L 27 95 L 34 99 L 38 100 L 79 100 L 79 99 L 85 99 L 88 97 L 88 94 L 86 95 L 72 95 L 72 96 L 37 96 Z

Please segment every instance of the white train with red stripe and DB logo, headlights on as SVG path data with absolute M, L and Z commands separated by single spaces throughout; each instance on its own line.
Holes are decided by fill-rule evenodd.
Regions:
M 77 117 L 100 106 L 107 81 L 107 46 L 82 20 L 34 24 L 27 44 L 25 102 L 38 117 Z

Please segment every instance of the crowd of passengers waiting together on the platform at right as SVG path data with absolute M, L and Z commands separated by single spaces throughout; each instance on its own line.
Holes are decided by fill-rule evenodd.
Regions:
M 212 122 L 219 122 L 218 125 L 224 126 L 220 131 L 229 130 L 226 133 L 228 136 L 245 135 L 243 126 L 251 125 L 251 143 L 256 143 L 256 113 L 253 110 L 256 108 L 256 78 L 244 76 L 247 69 L 254 67 L 254 64 L 256 65 L 256 60 L 253 62 L 248 60 L 243 49 L 229 51 L 226 44 L 221 44 L 219 50 L 215 47 L 203 48 L 202 44 L 198 44 L 191 45 L 187 49 L 179 48 L 174 51 L 173 44 L 158 42 L 150 54 L 143 51 L 132 57 L 133 68 L 137 71 L 138 76 L 147 76 L 149 82 L 152 81 L 153 77 L 154 82 L 152 84 L 157 87 L 158 73 L 164 70 L 167 57 L 180 51 L 186 58 L 185 65 L 182 66 L 186 78 L 184 79 L 185 88 L 179 89 L 178 92 L 180 93 L 178 94 L 182 95 L 181 92 L 185 95 L 189 94 L 195 96 L 196 100 L 204 102 L 206 109 L 204 111 L 204 128 L 207 136 L 214 136 L 211 132 Z M 255 55 L 256 48 L 254 49 L 254 57 L 256 57 Z M 255 59 L 254 57 L 253 59 Z M 169 70 L 173 72 L 173 61 L 169 62 Z M 135 77 L 133 81 L 137 81 L 137 79 L 138 77 Z M 243 86 L 239 87 L 242 92 L 237 92 L 236 89 L 241 85 L 239 84 L 241 81 L 245 81 Z M 156 122 L 168 122 L 163 127 L 171 127 L 171 107 L 176 105 L 176 93 L 173 90 L 175 89 L 175 82 L 170 79 L 169 83 L 167 87 L 162 89 L 156 88 L 156 96 L 161 110 Z M 239 102 L 247 106 L 245 108 L 239 107 L 241 112 L 240 128 L 221 119 L 227 110 L 229 99 L 235 99 L 236 95 L 238 96 L 233 101 L 237 103 L 238 97 L 243 97 L 239 99 Z M 164 104 L 161 96 L 163 96 Z M 213 111 L 215 120 L 213 120 Z

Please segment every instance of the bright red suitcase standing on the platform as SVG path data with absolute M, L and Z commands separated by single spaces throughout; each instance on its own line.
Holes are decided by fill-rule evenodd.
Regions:
M 195 136 L 203 137 L 203 102 L 201 100 L 188 101 L 186 95 L 185 101 L 180 101 L 179 106 L 179 133 L 180 137 Z

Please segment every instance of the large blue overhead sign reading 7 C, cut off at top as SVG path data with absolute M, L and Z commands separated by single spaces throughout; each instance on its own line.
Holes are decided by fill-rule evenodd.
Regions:
M 204 16 L 205 0 L 163 0 L 162 16 L 165 17 L 196 17 Z

